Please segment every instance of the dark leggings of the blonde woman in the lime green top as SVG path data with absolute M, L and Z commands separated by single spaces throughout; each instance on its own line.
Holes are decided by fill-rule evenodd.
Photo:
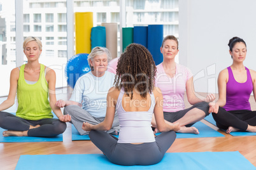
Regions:
M 29 129 L 30 125 L 40 126 L 39 128 Z M 0 127 L 10 131 L 27 131 L 27 136 L 53 137 L 64 133 L 67 124 L 59 121 L 59 119 L 29 121 L 7 112 L 0 112 Z

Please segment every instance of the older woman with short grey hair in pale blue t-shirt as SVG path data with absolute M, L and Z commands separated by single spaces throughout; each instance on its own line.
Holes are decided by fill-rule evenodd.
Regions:
M 64 114 L 71 115 L 71 123 L 81 135 L 89 133 L 83 131 L 83 122 L 99 124 L 105 119 L 108 90 L 115 80 L 115 74 L 106 71 L 110 60 L 111 55 L 107 48 L 92 49 L 88 56 L 91 71 L 76 81 L 73 94 L 68 101 L 59 100 L 56 103 L 57 107 L 65 107 Z M 117 134 L 119 129 L 119 121 L 115 116 L 108 133 Z

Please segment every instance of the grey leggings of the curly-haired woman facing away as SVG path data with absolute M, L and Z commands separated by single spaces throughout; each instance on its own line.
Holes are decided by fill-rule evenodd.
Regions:
M 174 131 L 164 132 L 155 137 L 155 142 L 139 145 L 117 143 L 118 138 L 104 131 L 92 130 L 89 137 L 110 162 L 123 166 L 146 166 L 157 164 L 162 160 L 168 148 L 173 144 L 176 133 Z

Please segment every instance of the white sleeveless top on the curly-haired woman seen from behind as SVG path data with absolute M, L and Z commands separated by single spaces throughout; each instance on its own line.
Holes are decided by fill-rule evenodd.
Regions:
M 152 114 L 155 107 L 155 97 L 150 94 L 151 105 L 148 111 L 125 112 L 122 107 L 124 88 L 120 90 L 117 99 L 117 114 L 120 122 L 118 143 L 149 143 L 155 141 L 152 131 Z

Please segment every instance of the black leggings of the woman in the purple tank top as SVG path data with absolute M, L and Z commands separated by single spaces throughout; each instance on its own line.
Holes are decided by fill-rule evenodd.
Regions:
M 251 110 L 230 110 L 226 111 L 220 107 L 218 114 L 212 113 L 216 125 L 220 129 L 227 129 L 229 126 L 246 131 L 248 125 L 256 126 L 256 111 Z

